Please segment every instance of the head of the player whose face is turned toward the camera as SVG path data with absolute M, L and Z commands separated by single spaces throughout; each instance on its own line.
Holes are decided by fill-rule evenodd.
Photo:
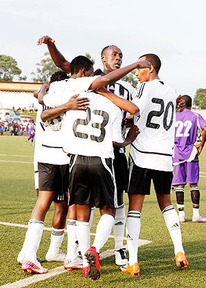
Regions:
M 122 65 L 122 51 L 115 45 L 108 45 L 102 49 L 101 59 L 104 71 L 119 69 Z

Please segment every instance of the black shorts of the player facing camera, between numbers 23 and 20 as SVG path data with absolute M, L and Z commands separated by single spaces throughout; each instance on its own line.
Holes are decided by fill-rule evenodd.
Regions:
M 122 206 L 124 204 L 123 192 L 128 187 L 128 163 L 124 153 L 115 153 L 113 167 L 117 186 L 117 203 L 118 206 Z

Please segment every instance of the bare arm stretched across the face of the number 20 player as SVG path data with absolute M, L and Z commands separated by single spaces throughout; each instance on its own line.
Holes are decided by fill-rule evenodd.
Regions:
M 133 71 L 134 69 L 140 69 L 140 68 L 150 68 L 151 64 L 149 61 L 137 61 L 133 64 L 130 64 L 126 67 L 119 68 L 115 71 L 111 71 L 110 73 L 103 75 L 101 77 L 98 77 L 94 80 L 94 82 L 89 87 L 89 90 L 97 89 L 102 86 L 112 84 L 116 82 L 117 80 L 122 79 L 126 74 L 128 74 L 130 71 Z

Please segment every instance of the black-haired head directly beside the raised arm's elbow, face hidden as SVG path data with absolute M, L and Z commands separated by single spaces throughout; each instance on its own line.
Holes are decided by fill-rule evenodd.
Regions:
M 71 75 L 76 74 L 78 77 L 89 77 L 93 75 L 93 62 L 85 56 L 77 56 L 70 64 Z

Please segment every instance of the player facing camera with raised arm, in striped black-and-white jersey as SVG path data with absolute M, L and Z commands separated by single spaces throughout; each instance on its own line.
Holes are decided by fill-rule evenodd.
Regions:
M 70 71 L 70 63 L 62 56 L 62 54 L 56 49 L 54 40 L 49 36 L 43 36 L 38 40 L 38 45 L 43 43 L 47 44 L 49 53 L 54 60 L 56 66 L 60 67 L 67 73 Z M 119 69 L 122 65 L 122 51 L 115 45 L 109 45 L 102 49 L 101 59 L 103 64 L 103 72 L 98 69 L 94 75 L 106 75 L 111 71 Z M 112 84 L 106 86 L 108 91 L 115 93 L 116 95 L 131 100 L 131 95 L 135 89 L 133 86 L 123 80 L 118 80 Z M 122 135 L 125 136 L 126 128 L 123 119 L 126 117 L 126 112 L 122 110 Z M 126 154 L 124 148 L 115 148 L 115 158 L 113 161 L 113 167 L 115 170 L 115 180 L 117 185 L 117 202 L 118 208 L 115 215 L 115 225 L 113 227 L 115 237 L 115 263 L 117 265 L 125 265 L 127 263 L 126 254 L 123 249 L 124 239 L 124 227 L 125 227 L 125 206 L 123 200 L 123 191 L 128 184 L 128 164 L 126 160 Z

